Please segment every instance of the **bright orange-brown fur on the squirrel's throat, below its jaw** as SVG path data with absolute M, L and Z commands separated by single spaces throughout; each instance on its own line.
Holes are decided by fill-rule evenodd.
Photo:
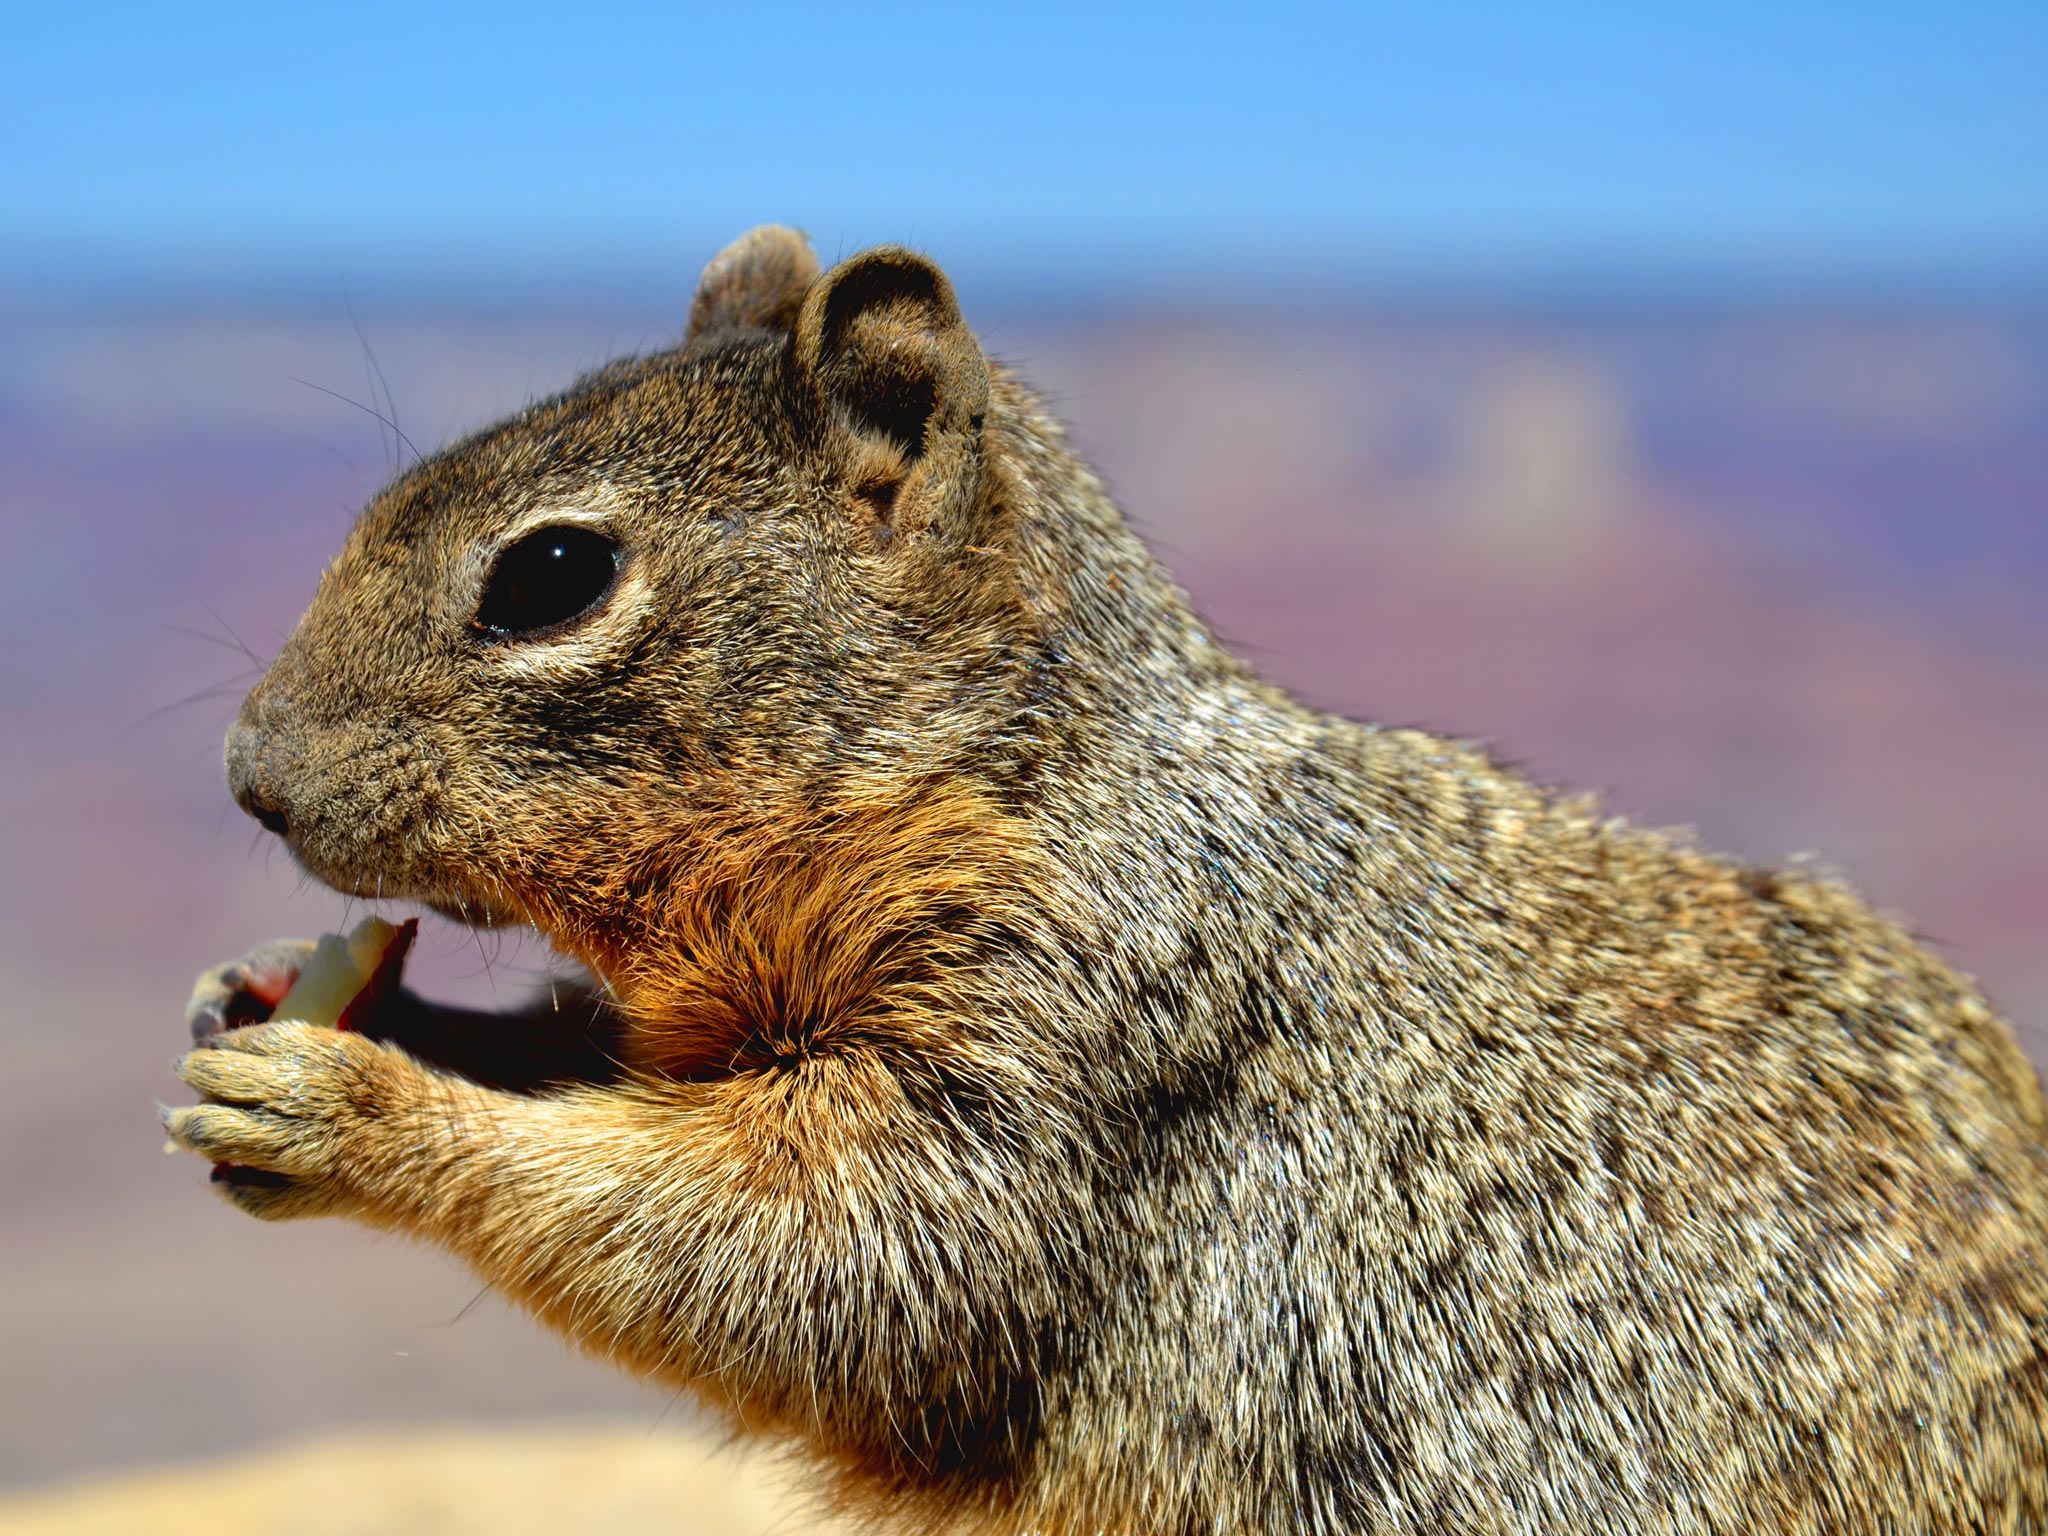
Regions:
M 612 827 L 602 858 L 592 829 L 557 842 L 565 858 L 500 877 L 504 901 L 604 977 L 659 1077 L 860 1038 L 942 1053 L 977 942 L 1034 920 L 1028 827 L 946 780 L 797 821 Z

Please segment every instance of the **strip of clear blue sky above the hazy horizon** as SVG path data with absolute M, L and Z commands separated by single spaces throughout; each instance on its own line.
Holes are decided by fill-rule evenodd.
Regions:
M 29 6 L 0 262 L 2030 270 L 2048 4 Z

